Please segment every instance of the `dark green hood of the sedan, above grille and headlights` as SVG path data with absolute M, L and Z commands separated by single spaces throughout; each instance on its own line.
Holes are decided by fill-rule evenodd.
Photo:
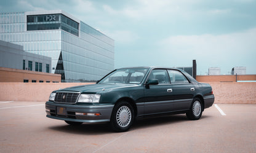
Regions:
M 55 92 L 105 93 L 117 88 L 136 87 L 138 84 L 89 84 L 55 90 Z

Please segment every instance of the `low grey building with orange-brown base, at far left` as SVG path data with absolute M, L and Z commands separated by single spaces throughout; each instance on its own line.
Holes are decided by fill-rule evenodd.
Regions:
M 50 57 L 24 52 L 22 45 L 0 41 L 0 82 L 60 82 L 50 73 Z

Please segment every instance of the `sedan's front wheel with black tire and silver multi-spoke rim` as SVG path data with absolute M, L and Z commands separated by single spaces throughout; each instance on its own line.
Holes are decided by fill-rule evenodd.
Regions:
M 114 106 L 111 115 L 111 128 L 116 132 L 129 130 L 134 123 L 134 109 L 127 101 L 121 101 Z

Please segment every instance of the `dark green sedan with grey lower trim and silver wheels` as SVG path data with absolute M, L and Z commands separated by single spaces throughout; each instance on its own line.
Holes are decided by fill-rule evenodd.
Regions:
M 127 131 L 137 117 L 183 113 L 198 120 L 213 103 L 212 87 L 185 71 L 136 67 L 115 69 L 96 84 L 55 90 L 46 113 L 70 125 L 110 122 L 114 131 Z

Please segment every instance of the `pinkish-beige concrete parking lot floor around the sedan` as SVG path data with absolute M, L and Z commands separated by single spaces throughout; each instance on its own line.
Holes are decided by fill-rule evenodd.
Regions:
M 49 119 L 44 102 L 0 101 L 0 152 L 255 152 L 256 104 L 217 106 L 200 120 L 146 118 L 114 133 L 108 124 Z

